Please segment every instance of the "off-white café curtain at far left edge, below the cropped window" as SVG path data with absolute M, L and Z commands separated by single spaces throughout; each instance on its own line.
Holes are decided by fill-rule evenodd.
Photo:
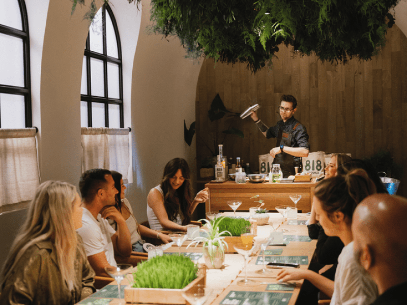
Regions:
M 0 129 L 0 212 L 25 208 L 40 185 L 36 129 Z

